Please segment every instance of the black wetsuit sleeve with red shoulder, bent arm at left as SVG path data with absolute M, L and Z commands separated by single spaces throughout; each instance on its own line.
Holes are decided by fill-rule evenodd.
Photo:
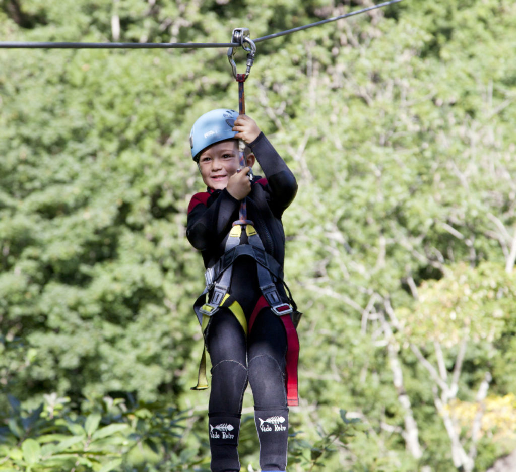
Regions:
M 234 199 L 226 189 L 220 192 L 211 205 L 193 196 L 188 206 L 186 227 L 186 237 L 190 244 L 199 251 L 217 247 L 230 231 L 232 215 L 239 205 L 240 201 Z

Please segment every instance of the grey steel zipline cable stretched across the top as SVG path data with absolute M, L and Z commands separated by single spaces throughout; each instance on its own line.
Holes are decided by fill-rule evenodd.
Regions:
M 292 29 L 286 29 L 271 35 L 262 36 L 254 39 L 255 43 L 266 41 L 280 36 L 289 35 L 296 31 L 312 28 L 332 21 L 342 20 L 344 18 L 352 17 L 360 13 L 365 13 L 376 8 L 382 8 L 394 3 L 402 2 L 402 0 L 389 0 L 388 2 L 379 3 L 370 7 L 362 8 L 360 10 L 351 11 L 339 15 L 338 17 L 328 18 L 326 20 L 317 21 L 304 26 L 298 26 Z M 0 41 L 0 49 L 199 49 L 205 47 L 237 47 L 240 43 L 82 43 L 82 42 L 35 42 L 35 41 Z

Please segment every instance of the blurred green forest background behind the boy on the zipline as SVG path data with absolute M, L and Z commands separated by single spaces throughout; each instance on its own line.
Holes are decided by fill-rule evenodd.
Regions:
M 231 42 L 372 4 L 2 0 L 0 39 Z M 257 44 L 246 111 L 299 182 L 292 472 L 514 470 L 515 51 L 513 0 L 406 0 Z M 0 64 L 0 470 L 207 471 L 188 135 L 238 107 L 227 50 Z

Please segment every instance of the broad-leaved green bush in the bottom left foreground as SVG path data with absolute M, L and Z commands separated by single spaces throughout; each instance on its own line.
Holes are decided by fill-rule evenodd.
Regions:
M 9 400 L 0 470 L 183 470 L 192 463 L 180 450 L 184 417 L 158 403 L 106 397 L 77 414 L 57 395 L 30 411 Z

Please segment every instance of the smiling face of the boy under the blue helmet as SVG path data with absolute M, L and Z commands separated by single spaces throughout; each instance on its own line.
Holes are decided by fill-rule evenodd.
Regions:
M 238 142 L 221 141 L 206 148 L 199 157 L 202 181 L 207 187 L 222 190 L 239 168 Z

